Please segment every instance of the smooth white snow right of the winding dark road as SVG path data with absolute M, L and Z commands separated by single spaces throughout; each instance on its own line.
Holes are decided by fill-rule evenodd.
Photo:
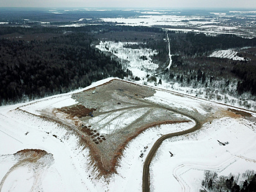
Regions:
M 194 134 L 167 139 L 150 167 L 152 191 L 199 191 L 204 170 L 219 176 L 256 170 L 255 132 L 246 120 L 221 118 Z

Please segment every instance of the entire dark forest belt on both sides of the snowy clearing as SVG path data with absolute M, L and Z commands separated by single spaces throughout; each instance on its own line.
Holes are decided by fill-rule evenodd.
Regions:
M 167 33 L 161 28 L 114 24 L 1 27 L 0 104 L 68 92 L 109 76 L 131 75 L 130 71 L 122 69 L 119 61 L 92 46 L 99 39 L 137 41 L 141 43 L 127 46 L 157 50 L 158 54 L 152 59 L 159 64 L 159 72 L 163 72 L 167 81 L 227 92 L 231 90 L 229 87 L 235 86 L 239 94 L 256 94 L 255 59 L 233 61 L 208 57 L 214 50 L 256 46 L 256 38 L 175 32 L 168 32 L 168 37 L 172 55 L 169 70 L 165 69 L 169 59 Z M 255 51 L 252 51 L 249 57 L 254 56 Z M 209 99 L 221 99 L 218 92 L 206 94 Z

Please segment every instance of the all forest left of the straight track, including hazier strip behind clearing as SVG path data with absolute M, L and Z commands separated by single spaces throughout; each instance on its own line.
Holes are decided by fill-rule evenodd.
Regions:
M 98 40 L 95 34 L 124 31 L 162 29 L 118 25 L 1 27 L 0 105 L 68 92 L 106 77 L 132 76 L 119 61 L 91 46 Z

